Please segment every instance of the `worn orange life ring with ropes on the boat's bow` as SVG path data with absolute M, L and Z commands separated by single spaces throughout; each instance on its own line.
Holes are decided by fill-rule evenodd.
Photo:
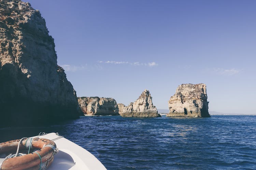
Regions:
M 10 140 L 0 143 L 0 154 L 15 152 L 20 140 L 21 139 Z M 20 149 L 26 149 L 28 147 L 31 149 L 37 148 L 39 150 L 23 156 L 6 158 L 0 163 L 0 170 L 39 169 L 43 163 L 45 169 L 53 162 L 53 155 L 57 152 L 55 142 L 44 138 L 27 138 L 20 142 Z

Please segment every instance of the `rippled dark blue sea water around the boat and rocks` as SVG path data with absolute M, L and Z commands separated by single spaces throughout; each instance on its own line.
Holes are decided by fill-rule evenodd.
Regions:
M 0 129 L 0 142 L 59 132 L 107 169 L 256 169 L 256 116 L 80 117 L 56 125 Z

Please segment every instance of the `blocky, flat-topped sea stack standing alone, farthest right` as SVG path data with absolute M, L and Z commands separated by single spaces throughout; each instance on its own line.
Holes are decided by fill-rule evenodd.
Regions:
M 182 84 L 170 98 L 167 117 L 210 117 L 205 84 Z

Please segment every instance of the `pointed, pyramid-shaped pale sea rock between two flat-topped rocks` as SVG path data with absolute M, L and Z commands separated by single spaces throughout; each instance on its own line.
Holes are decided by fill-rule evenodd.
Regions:
M 123 117 L 161 117 L 152 103 L 152 97 L 148 90 L 144 90 L 140 97 L 128 106 L 124 107 Z

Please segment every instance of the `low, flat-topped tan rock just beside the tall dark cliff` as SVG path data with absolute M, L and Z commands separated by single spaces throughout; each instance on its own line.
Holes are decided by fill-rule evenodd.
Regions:
M 78 103 L 85 115 L 119 115 L 113 98 L 78 97 Z

